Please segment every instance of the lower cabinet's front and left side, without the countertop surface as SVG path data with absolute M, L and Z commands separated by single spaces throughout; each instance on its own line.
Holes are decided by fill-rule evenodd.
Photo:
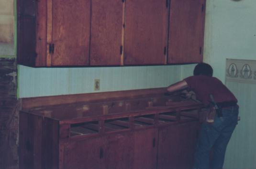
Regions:
M 188 109 L 193 111 L 197 109 Z M 192 168 L 199 129 L 197 118 L 175 110 L 102 118 L 58 121 L 21 112 L 19 168 Z

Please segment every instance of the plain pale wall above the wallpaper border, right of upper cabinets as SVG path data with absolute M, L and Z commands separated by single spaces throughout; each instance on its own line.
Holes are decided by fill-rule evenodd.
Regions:
M 226 58 L 256 59 L 256 0 L 207 0 L 204 62 L 224 82 Z

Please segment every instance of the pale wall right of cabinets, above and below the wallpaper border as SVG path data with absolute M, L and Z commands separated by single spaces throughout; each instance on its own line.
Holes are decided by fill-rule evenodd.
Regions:
M 226 58 L 256 60 L 256 0 L 207 0 L 204 62 L 225 81 Z M 253 70 L 256 71 L 256 70 Z M 224 169 L 256 169 L 255 84 L 228 82 L 241 121 L 227 147 Z

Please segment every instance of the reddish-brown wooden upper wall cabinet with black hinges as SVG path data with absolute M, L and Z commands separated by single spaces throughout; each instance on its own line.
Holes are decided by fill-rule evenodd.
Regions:
M 64 42 L 58 42 L 58 37 L 60 36 L 60 32 L 63 28 L 58 27 L 56 28 L 56 23 L 59 22 L 55 20 L 55 18 L 61 18 L 59 14 L 55 15 L 55 5 L 59 2 L 53 1 L 53 0 L 17 0 L 17 9 L 18 9 L 18 50 L 17 50 L 17 62 L 18 64 L 23 64 L 26 66 L 32 66 L 32 67 L 63 67 L 63 66 L 80 66 L 80 67 L 95 67 L 95 66 L 131 66 L 131 65 L 167 65 L 167 64 L 177 64 L 177 63 L 200 63 L 202 62 L 202 56 L 203 56 L 203 34 L 204 34 L 204 17 L 205 17 L 205 3 L 206 0 L 198 0 L 200 5 L 203 5 L 202 7 L 196 6 L 197 9 L 202 9 L 202 12 L 199 14 L 200 17 L 193 16 L 195 21 L 192 21 L 194 27 L 196 30 L 193 31 L 193 29 L 184 28 L 184 25 L 189 25 L 188 23 L 183 24 L 182 21 L 186 20 L 188 18 L 188 15 L 183 14 L 186 18 L 181 19 L 175 19 L 177 25 L 173 25 L 173 16 L 177 17 L 179 15 L 175 15 L 172 11 L 176 10 L 173 7 L 173 3 L 176 4 L 176 8 L 178 9 L 178 3 L 181 0 L 162 0 L 159 1 L 159 4 L 161 2 L 161 5 L 157 5 L 158 8 L 162 7 L 164 10 L 166 10 L 166 14 L 159 14 L 158 13 L 150 13 L 150 9 L 145 8 L 144 12 L 147 12 L 145 15 L 152 15 L 152 18 L 155 18 L 153 20 L 155 21 L 144 21 L 143 17 L 136 21 L 136 17 L 133 18 L 134 11 L 140 11 L 140 8 L 142 9 L 143 6 L 147 5 L 150 7 L 150 3 L 155 3 L 155 1 L 146 1 L 140 0 L 134 2 L 126 1 L 126 0 L 116 0 L 113 2 L 116 2 L 118 4 L 119 12 L 116 15 L 116 18 L 119 18 L 118 21 L 113 23 L 109 28 L 103 28 L 100 29 L 99 34 L 97 35 L 97 30 L 94 30 L 95 26 L 101 25 L 104 27 L 105 23 L 101 23 L 98 21 L 98 19 L 102 19 L 102 16 L 104 16 L 104 12 L 100 10 L 101 6 L 104 4 L 100 4 L 100 1 L 97 0 L 86 0 L 86 5 L 88 10 L 88 14 L 84 16 L 83 18 L 87 19 L 81 19 L 82 21 L 86 20 L 85 23 L 81 24 L 81 21 L 78 20 L 78 24 L 84 25 L 79 28 L 77 34 L 81 34 L 79 32 L 83 32 L 84 38 L 80 38 L 76 34 L 78 38 L 76 40 L 72 40 L 71 42 L 65 40 Z M 188 0 L 182 0 L 182 3 L 187 4 Z M 65 1 L 65 3 L 67 3 Z M 85 2 L 83 2 L 85 3 Z M 105 2 L 104 2 L 105 3 Z M 132 4 L 132 5 L 131 5 Z M 188 3 L 189 4 L 189 3 Z M 93 6 L 92 6 L 93 5 Z M 89 7 L 90 6 L 90 7 Z M 99 6 L 99 7 L 98 7 Z M 109 5 L 108 5 L 109 6 Z M 151 5 L 152 6 L 152 5 Z M 156 5 L 154 5 L 156 6 Z M 193 7 L 187 7 L 188 5 L 185 5 L 186 8 L 194 9 Z M 64 4 L 64 7 L 67 8 L 67 4 Z M 113 7 L 114 8 L 114 7 Z M 132 8 L 132 9 L 131 9 Z M 138 8 L 137 10 L 135 8 Z M 184 7 L 185 8 L 185 7 Z M 61 9 L 61 8 L 58 8 Z M 110 9 L 110 8 L 109 8 Z M 183 9 L 183 7 L 181 7 Z M 111 10 L 111 9 L 110 9 Z M 180 11 L 180 10 L 178 10 Z M 183 11 L 186 11 L 183 9 Z M 97 13 L 92 13 L 97 12 Z M 100 12 L 103 14 L 101 15 Z M 70 12 L 69 12 L 70 13 Z M 110 12 L 109 12 L 110 13 Z M 192 12 L 193 15 L 197 15 L 196 12 Z M 115 15 L 115 12 L 111 11 L 111 15 Z M 163 15 L 162 17 L 156 16 L 156 15 Z M 190 15 L 189 15 L 190 16 Z M 147 16 L 144 16 L 146 18 Z M 72 17 L 71 17 L 72 18 Z M 163 18 L 163 24 L 165 26 L 162 26 L 163 29 L 163 37 L 155 37 L 154 35 L 150 36 L 150 34 L 153 34 L 152 32 L 158 32 L 159 31 L 155 28 L 156 26 L 154 23 L 159 24 L 159 21 L 161 20 L 159 18 Z M 200 25 L 197 26 L 197 18 L 200 18 Z M 72 20 L 73 21 L 73 20 Z M 166 23 L 165 23 L 166 21 Z M 187 22 L 190 21 L 187 19 Z M 66 21 L 67 22 L 67 21 Z M 111 22 L 111 21 L 109 21 Z M 138 23 L 136 23 L 138 22 Z M 196 23 L 195 23 L 196 22 Z M 93 23 L 93 25 L 91 25 Z M 160 21 L 160 24 L 162 22 Z M 76 22 L 74 22 L 76 24 Z M 134 26 L 135 25 L 135 26 Z M 142 28 L 136 29 L 136 25 L 142 25 Z M 148 25 L 148 26 L 147 26 Z M 186 31 L 193 31 L 193 32 L 200 32 L 200 36 L 185 36 L 184 33 L 182 36 L 173 36 L 178 33 L 177 31 L 179 29 L 179 25 L 183 25 L 182 29 L 183 32 Z M 155 26 L 155 27 L 154 27 Z M 67 29 L 71 29 L 71 26 L 66 26 Z M 117 28 L 118 27 L 118 28 Z M 189 26 L 188 26 L 189 27 Z M 112 31 L 117 33 L 118 38 L 114 39 L 114 44 L 110 44 L 108 41 L 111 37 L 110 35 L 107 35 L 106 32 L 108 32 L 108 29 L 114 28 L 118 30 Z M 173 30 L 173 28 L 175 28 Z M 55 30 L 58 31 L 55 31 Z M 84 29 L 81 30 L 81 29 Z M 93 30 L 92 30 L 93 29 Z M 102 30 L 102 31 L 101 31 Z M 105 31 L 104 31 L 105 30 Z M 112 30 L 112 29 L 111 29 Z M 96 31 L 96 33 L 94 32 Z M 139 31 L 141 33 L 137 33 L 138 37 L 132 37 L 133 34 Z M 145 36 L 141 35 L 142 32 L 146 32 Z M 174 32 L 173 32 L 174 31 Z M 58 32 L 58 33 L 56 33 Z M 70 31 L 69 31 L 70 32 Z M 151 32 L 151 33 L 150 33 Z M 192 32 L 192 33 L 193 33 Z M 115 33 L 113 33 L 112 36 L 115 36 Z M 97 36 L 96 36 L 96 35 Z M 135 33 L 136 34 L 136 33 Z M 161 35 L 160 35 L 161 36 Z M 136 38 L 139 38 L 137 40 Z M 107 40 L 106 40 L 107 39 Z M 80 42 L 81 41 L 81 42 Z M 156 41 L 161 41 L 160 43 L 164 43 L 165 45 L 159 44 Z M 162 42 L 163 41 L 163 42 Z M 198 42 L 200 43 L 200 46 L 196 47 L 189 47 L 190 45 L 187 44 L 186 41 L 192 42 Z M 56 44 L 55 44 L 56 43 Z M 58 45 L 57 45 L 58 43 Z M 72 45 L 68 45 L 68 44 Z M 80 44 L 82 43 L 82 44 Z M 109 43 L 109 44 L 107 44 Z M 134 44 L 136 43 L 136 44 Z M 173 44 L 175 43 L 175 44 Z M 100 50 L 97 50 L 97 48 L 100 46 Z M 102 44 L 102 45 L 100 45 Z M 159 44 L 159 45 L 157 45 Z M 182 47 L 182 45 L 185 44 L 185 47 Z M 149 45 L 149 46 L 148 46 Z M 151 45 L 151 46 L 150 46 Z M 191 44 L 192 45 L 192 44 Z M 115 46 L 115 49 L 109 49 L 110 46 Z M 155 47 L 157 49 L 158 54 L 155 53 L 155 50 L 152 51 L 152 49 Z M 177 47 L 178 46 L 178 47 Z M 70 48 L 70 49 L 69 49 Z M 148 49 L 147 49 L 148 48 Z M 64 52 L 58 52 L 57 51 L 65 51 Z M 113 51 L 112 51 L 113 50 Z M 150 51 L 151 52 L 148 52 Z M 74 53 L 70 52 L 74 51 Z M 184 52 L 185 51 L 185 52 Z M 155 53 L 155 54 L 154 54 Z M 198 54 L 200 53 L 200 54 Z M 104 56 L 101 56 L 104 55 Z M 114 55 L 114 56 L 112 56 Z

